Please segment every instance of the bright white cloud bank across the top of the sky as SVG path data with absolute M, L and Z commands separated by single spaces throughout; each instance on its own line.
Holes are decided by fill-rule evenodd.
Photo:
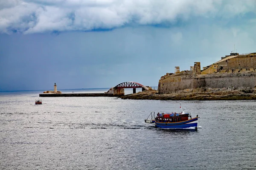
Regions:
M 0 2 L 0 32 L 90 31 L 255 11 L 255 0 L 8 0 Z

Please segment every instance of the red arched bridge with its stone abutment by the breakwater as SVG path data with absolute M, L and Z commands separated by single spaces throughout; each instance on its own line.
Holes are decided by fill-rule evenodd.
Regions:
M 133 88 L 133 93 L 136 93 L 136 88 L 142 88 L 142 91 L 149 90 L 148 86 L 142 85 L 137 82 L 122 82 L 119 85 L 116 85 L 113 88 L 110 88 L 106 94 L 114 94 L 114 95 L 125 95 L 125 88 Z

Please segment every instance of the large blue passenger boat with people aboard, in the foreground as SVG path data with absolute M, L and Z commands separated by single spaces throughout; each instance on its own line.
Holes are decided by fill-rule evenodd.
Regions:
M 157 113 L 155 117 L 155 112 L 151 112 L 145 119 L 145 123 L 152 123 L 155 127 L 166 129 L 197 129 L 198 115 L 192 118 L 189 113 L 182 111 L 181 113 Z

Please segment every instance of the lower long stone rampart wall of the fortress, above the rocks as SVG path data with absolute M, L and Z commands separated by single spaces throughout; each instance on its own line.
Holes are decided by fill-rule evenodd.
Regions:
M 160 94 L 176 93 L 195 88 L 255 88 L 256 73 L 205 74 L 205 75 L 169 75 L 159 80 Z

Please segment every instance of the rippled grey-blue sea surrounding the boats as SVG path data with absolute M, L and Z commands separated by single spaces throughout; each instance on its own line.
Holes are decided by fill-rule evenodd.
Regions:
M 39 97 L 42 92 L 0 92 L 0 169 L 256 170 L 254 100 Z M 180 112 L 180 105 L 199 116 L 197 130 L 144 121 L 151 112 Z

